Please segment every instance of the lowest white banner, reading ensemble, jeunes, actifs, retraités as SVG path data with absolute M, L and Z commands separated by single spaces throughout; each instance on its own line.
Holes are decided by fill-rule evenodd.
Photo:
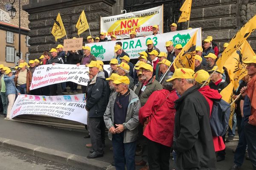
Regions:
M 45 115 L 87 124 L 85 94 L 66 96 L 33 96 L 20 94 L 10 119 L 18 115 Z

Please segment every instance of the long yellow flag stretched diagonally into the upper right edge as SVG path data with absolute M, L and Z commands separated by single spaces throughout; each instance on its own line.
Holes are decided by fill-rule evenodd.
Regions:
M 221 57 L 219 57 L 216 62 L 218 68 L 223 68 L 228 57 L 230 57 L 231 54 L 242 45 L 242 43 L 247 39 L 247 37 L 250 36 L 254 29 L 256 29 L 256 15 L 251 18 L 232 38 L 227 48 L 223 51 Z

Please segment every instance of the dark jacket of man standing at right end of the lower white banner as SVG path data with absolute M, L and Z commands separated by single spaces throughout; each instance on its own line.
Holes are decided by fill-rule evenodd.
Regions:
M 89 117 L 103 117 L 108 105 L 110 88 L 104 72 L 99 72 L 87 85 L 86 109 Z

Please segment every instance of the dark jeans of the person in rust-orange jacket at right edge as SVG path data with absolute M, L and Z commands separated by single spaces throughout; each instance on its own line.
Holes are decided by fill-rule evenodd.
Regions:
M 256 170 L 256 126 L 245 122 L 244 133 L 247 141 L 249 158 L 253 164 L 253 170 Z

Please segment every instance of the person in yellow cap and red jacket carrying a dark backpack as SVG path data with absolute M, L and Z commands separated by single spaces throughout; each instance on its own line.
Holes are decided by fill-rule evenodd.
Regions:
M 210 77 L 207 71 L 199 70 L 195 73 L 194 77 L 196 81 L 195 85 L 198 86 L 199 88 L 198 91 L 205 97 L 205 99 L 209 104 L 209 107 L 210 107 L 209 115 L 211 116 L 213 101 L 221 99 L 222 96 L 218 93 L 217 90 L 211 89 L 209 87 L 208 85 L 209 80 L 204 85 L 204 87 L 201 88 L 204 82 Z M 213 139 L 215 152 L 225 149 L 225 144 L 223 142 L 222 136 L 212 136 L 212 139 Z

